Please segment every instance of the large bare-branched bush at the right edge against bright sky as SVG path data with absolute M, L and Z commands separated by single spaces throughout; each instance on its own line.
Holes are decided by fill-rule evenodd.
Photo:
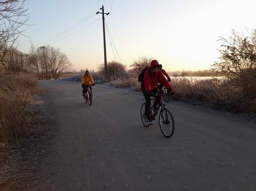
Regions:
M 239 101 L 246 112 L 256 99 L 256 29 L 250 37 L 233 31 L 230 40 L 221 38 L 220 58 L 212 70 L 222 75 L 229 89 L 240 91 Z

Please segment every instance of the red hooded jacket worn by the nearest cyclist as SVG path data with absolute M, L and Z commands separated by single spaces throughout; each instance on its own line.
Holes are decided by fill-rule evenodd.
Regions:
M 157 73 L 154 73 L 154 71 L 152 71 L 152 68 L 154 66 L 159 66 L 159 63 L 157 60 L 152 60 L 150 65 L 151 71 L 146 70 L 144 73 L 143 89 L 146 91 L 154 90 L 155 88 L 158 87 L 158 83 L 162 83 L 164 84 L 164 86 L 166 86 L 167 89 L 170 89 L 171 86 L 167 82 L 166 78 L 164 78 L 162 71 L 159 70 Z

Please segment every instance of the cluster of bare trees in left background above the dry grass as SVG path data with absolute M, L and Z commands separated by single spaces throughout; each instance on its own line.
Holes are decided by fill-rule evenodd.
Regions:
M 26 54 L 11 48 L 0 62 L 2 73 L 36 73 L 38 79 L 57 79 L 71 69 L 66 54 L 52 46 L 41 46 Z

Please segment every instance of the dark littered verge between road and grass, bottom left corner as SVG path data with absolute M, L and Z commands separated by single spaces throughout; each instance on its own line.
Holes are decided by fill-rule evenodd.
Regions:
M 0 148 L 0 190 L 32 189 L 40 179 L 40 170 L 46 165 L 44 158 L 51 148 L 56 124 L 42 97 L 34 98 L 29 108 L 33 113 L 30 135 L 13 146 L 2 145 Z

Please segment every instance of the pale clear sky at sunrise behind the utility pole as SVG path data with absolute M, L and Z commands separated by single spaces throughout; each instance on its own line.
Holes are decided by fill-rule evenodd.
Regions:
M 59 48 L 77 71 L 97 70 L 104 63 L 102 16 L 96 14 L 102 5 L 110 11 L 105 19 L 114 41 L 113 54 L 106 31 L 107 60 L 127 67 L 146 56 L 167 71 L 209 69 L 220 56 L 220 36 L 229 38 L 232 29 L 246 36 L 256 28 L 255 0 L 27 0 L 24 35 L 35 47 Z M 28 37 L 18 44 L 29 52 Z

